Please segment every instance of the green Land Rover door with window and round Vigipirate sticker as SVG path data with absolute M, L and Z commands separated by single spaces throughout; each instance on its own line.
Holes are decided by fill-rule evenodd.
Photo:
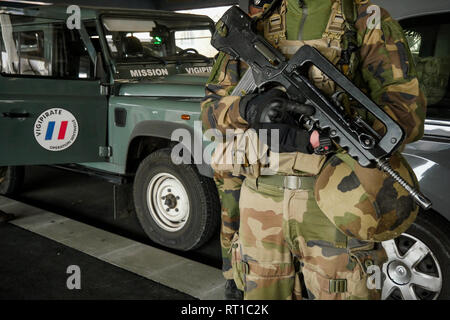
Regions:
M 105 161 L 108 98 L 84 24 L 8 13 L 0 23 L 0 166 Z

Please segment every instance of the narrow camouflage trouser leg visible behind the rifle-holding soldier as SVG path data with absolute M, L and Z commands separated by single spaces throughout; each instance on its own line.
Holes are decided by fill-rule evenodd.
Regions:
M 239 231 L 239 195 L 244 177 L 231 173 L 215 173 L 214 182 L 221 203 L 220 246 L 222 248 L 222 272 L 227 280 L 233 279 L 231 268 L 231 241 Z

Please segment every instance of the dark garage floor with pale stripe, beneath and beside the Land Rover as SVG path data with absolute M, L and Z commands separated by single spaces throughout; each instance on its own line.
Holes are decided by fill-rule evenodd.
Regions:
M 136 217 L 114 220 L 111 184 L 48 167 L 26 174 L 20 202 L 0 199 L 19 216 L 0 226 L 0 299 L 222 298 L 218 235 L 194 252 L 158 249 Z M 66 288 L 71 264 L 82 290 Z

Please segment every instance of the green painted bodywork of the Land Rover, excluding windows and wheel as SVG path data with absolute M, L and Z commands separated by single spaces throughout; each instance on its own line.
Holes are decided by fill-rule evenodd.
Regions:
M 5 13 L 51 18 L 57 21 L 68 16 L 65 12 L 66 7 L 40 7 L 35 10 L 0 6 L 0 9 Z M 213 27 L 213 22 L 208 17 L 172 12 L 123 9 L 83 9 L 81 12 L 83 20 L 99 21 L 102 15 L 178 18 L 193 21 L 197 19 L 202 23 L 208 22 Z M 97 23 L 97 26 L 99 25 Z M 102 35 L 101 28 L 98 32 Z M 52 43 L 46 43 L 45 46 L 45 50 L 50 54 Z M 200 67 L 198 70 L 204 71 L 205 67 L 212 67 L 213 61 L 188 61 L 184 65 L 169 62 L 167 69 L 178 70 L 182 66 L 186 71 L 182 74 L 171 71 L 166 77 L 114 79 L 111 75 L 118 74 L 117 67 L 105 47 L 106 41 L 102 45 L 102 52 L 105 65 L 110 68 L 106 70 L 110 75 L 108 76 L 110 80 L 106 83 L 111 92 L 109 95 L 101 94 L 100 80 L 0 75 L 0 166 L 78 163 L 109 173 L 125 174 L 131 136 L 140 123 L 163 121 L 172 127 L 187 125 L 194 128 L 194 121 L 200 120 L 200 101 L 205 94 L 204 85 L 208 74 L 187 74 L 187 68 Z M 151 63 L 145 64 L 145 68 L 151 66 Z M 139 69 L 142 66 L 125 67 Z M 124 66 L 121 68 L 124 69 Z M 34 137 L 35 123 L 39 115 L 54 108 L 71 112 L 79 126 L 75 142 L 69 148 L 57 152 L 45 150 Z M 126 111 L 125 126 L 116 124 L 117 108 Z M 25 118 L 2 116 L 8 113 L 28 115 Z M 190 120 L 182 120 L 181 116 L 186 114 L 190 115 Z M 112 155 L 101 156 L 99 153 L 101 147 L 110 147 Z

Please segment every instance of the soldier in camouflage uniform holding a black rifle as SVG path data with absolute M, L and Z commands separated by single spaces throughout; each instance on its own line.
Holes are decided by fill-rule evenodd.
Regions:
M 421 138 L 426 103 L 403 31 L 385 10 L 380 26 L 369 27 L 373 7 L 366 0 L 283 0 L 273 6 L 277 10 L 267 8 L 271 15 L 260 19 L 258 30 L 266 39 L 287 56 L 295 45 L 325 41 L 328 46 L 319 44 L 319 51 L 402 126 L 405 142 Z M 337 57 L 328 54 L 332 47 L 338 48 Z M 270 91 L 230 95 L 246 68 L 220 54 L 202 103 L 205 129 L 225 133 L 254 127 L 254 110 L 267 107 L 273 97 Z M 326 94 L 335 90 L 320 73 L 310 78 Z M 380 123 L 346 102 L 347 112 L 363 116 L 382 133 Z M 305 134 L 297 129 L 294 136 L 302 137 L 294 139 L 298 149 L 279 154 L 281 165 L 273 176 L 258 175 L 245 165 L 232 169 L 246 176 L 231 250 L 236 284 L 245 299 L 377 299 L 379 290 L 366 284 L 367 268 L 385 261 L 377 242 L 404 232 L 418 207 L 392 178 L 360 167 L 344 150 L 327 157 L 311 154 L 315 142 L 305 143 Z M 417 185 L 399 153 L 390 163 Z

